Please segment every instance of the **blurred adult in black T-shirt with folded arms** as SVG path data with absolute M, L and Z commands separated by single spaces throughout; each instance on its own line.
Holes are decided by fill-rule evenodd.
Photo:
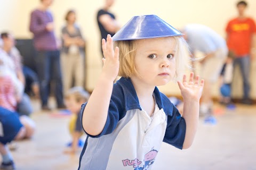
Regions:
M 109 34 L 111 37 L 120 29 L 119 23 L 116 21 L 116 17 L 109 11 L 109 8 L 114 4 L 115 0 L 105 0 L 105 5 L 98 11 L 97 21 L 101 33 L 101 40 L 107 39 Z M 100 40 L 100 47 L 101 47 Z M 102 52 L 102 49 L 101 49 Z M 103 53 L 102 53 L 103 56 Z

